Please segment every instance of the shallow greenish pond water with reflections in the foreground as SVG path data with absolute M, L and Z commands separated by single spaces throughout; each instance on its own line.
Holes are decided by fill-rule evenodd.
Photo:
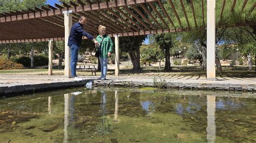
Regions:
M 0 98 L 0 142 L 255 142 L 252 92 L 93 88 Z

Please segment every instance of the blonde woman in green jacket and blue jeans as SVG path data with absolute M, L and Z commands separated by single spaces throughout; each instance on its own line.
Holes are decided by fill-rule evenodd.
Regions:
M 98 80 L 106 80 L 106 73 L 107 73 L 107 60 L 111 56 L 112 49 L 113 49 L 113 42 L 109 35 L 106 34 L 106 27 L 99 25 L 98 28 L 99 35 L 96 37 L 96 40 L 99 42 L 100 46 L 100 69 L 102 71 L 102 76 L 98 78 Z

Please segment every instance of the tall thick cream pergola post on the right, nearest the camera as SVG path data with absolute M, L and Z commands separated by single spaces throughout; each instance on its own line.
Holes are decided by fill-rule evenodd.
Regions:
M 215 0 L 207 0 L 207 80 L 215 81 Z

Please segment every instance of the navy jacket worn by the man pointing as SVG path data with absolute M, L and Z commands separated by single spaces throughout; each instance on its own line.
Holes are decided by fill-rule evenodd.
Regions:
M 84 31 L 83 26 L 79 22 L 72 25 L 70 35 L 69 35 L 68 46 L 71 46 L 73 44 L 80 45 L 82 42 L 83 35 L 85 35 L 90 40 L 93 39 L 91 34 Z

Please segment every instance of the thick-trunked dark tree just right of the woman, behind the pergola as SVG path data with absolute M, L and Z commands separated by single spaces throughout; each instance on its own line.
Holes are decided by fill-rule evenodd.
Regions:
M 145 35 L 134 36 L 134 37 L 120 37 L 119 47 L 121 51 L 128 52 L 132 61 L 132 71 L 141 71 L 140 67 L 140 46 L 142 45 Z

